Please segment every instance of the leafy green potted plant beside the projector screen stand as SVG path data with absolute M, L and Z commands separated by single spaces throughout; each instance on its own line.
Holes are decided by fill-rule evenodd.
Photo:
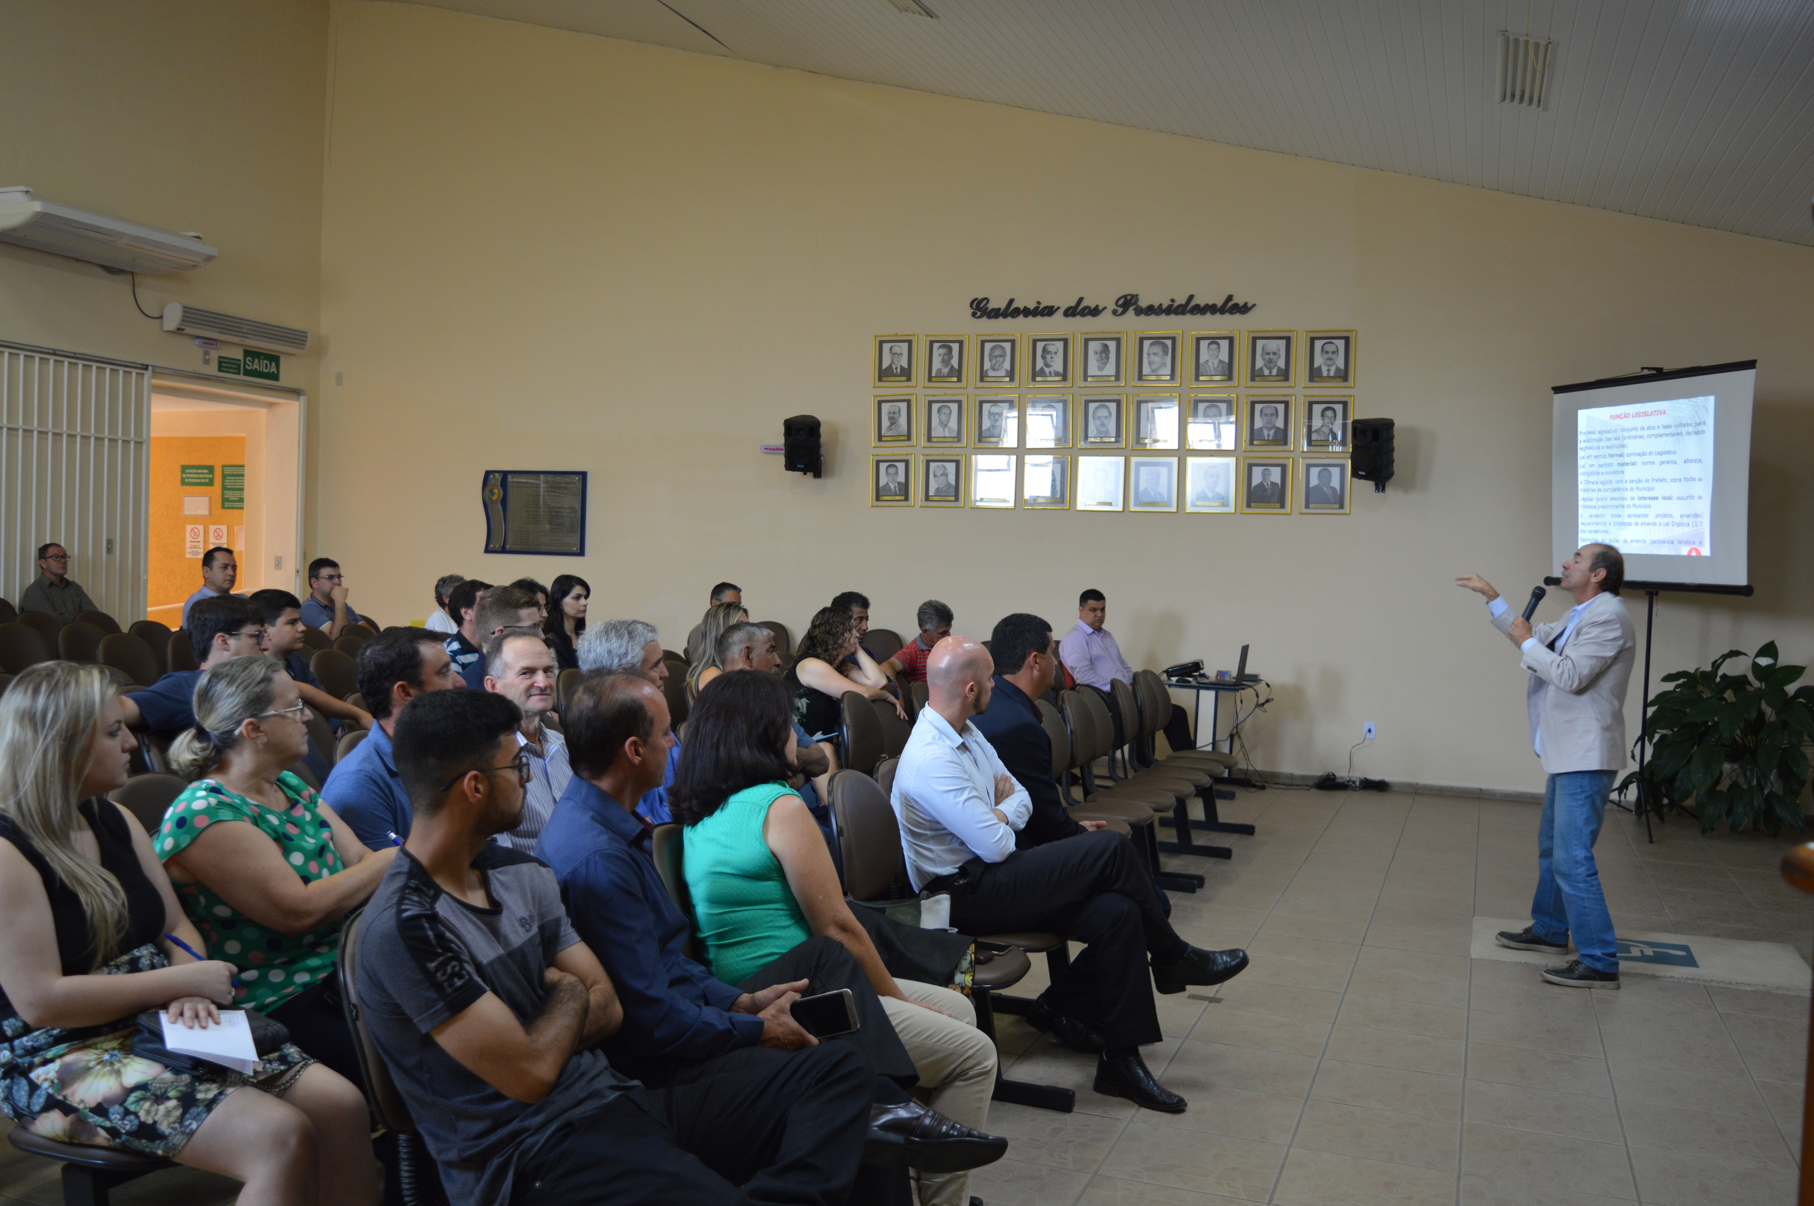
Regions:
M 1732 832 L 1760 827 L 1770 836 L 1803 831 L 1801 789 L 1814 742 L 1814 686 L 1790 691 L 1805 666 L 1781 666 L 1776 642 L 1751 655 L 1751 673 L 1721 667 L 1745 656 L 1729 649 L 1709 669 L 1663 675 L 1674 684 L 1651 700 L 1651 756 L 1642 791 L 1653 802 L 1692 812 L 1702 832 L 1725 822 Z M 1638 783 L 1638 771 L 1620 789 Z

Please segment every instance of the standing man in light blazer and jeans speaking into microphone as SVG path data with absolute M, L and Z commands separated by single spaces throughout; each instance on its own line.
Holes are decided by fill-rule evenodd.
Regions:
M 1549 774 L 1536 831 L 1531 925 L 1500 932 L 1498 945 L 1565 956 L 1573 938 L 1576 958 L 1544 970 L 1544 979 L 1571 988 L 1618 988 L 1613 918 L 1593 845 L 1613 776 L 1625 765 L 1625 687 L 1638 637 L 1618 597 L 1624 582 L 1625 559 L 1616 548 L 1584 544 L 1562 564 L 1562 589 L 1575 597 L 1575 608 L 1533 629 L 1542 588 L 1520 617 L 1480 575 L 1455 579 L 1486 597 L 1493 627 L 1522 651 L 1520 666 L 1531 671 L 1531 744 Z

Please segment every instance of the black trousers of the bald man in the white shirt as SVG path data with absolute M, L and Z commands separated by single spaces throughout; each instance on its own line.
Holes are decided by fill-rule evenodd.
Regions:
M 1108 1046 L 1159 1041 L 1146 956 L 1174 950 L 1177 932 L 1132 841 L 1097 829 L 1000 863 L 972 858 L 938 890 L 951 892 L 963 934 L 1048 930 L 1085 943 L 1087 961 L 1054 985 L 1052 1003 L 1099 1025 Z

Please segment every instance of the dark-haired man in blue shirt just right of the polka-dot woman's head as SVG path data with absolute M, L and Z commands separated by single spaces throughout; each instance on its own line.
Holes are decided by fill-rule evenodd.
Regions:
M 403 705 L 428 691 L 459 691 L 446 646 L 424 627 L 392 627 L 359 646 L 359 695 L 375 727 L 350 754 L 334 763 L 321 798 L 352 825 L 359 841 L 381 851 L 410 836 L 410 793 L 397 774 L 392 736 Z

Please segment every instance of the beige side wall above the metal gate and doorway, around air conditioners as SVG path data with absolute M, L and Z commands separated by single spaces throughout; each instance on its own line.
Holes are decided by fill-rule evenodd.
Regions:
M 140 277 L 152 314 L 185 301 L 312 330 L 327 16 L 325 0 L 0 0 L 0 185 L 201 232 L 219 259 Z M 203 370 L 127 277 L 11 243 L 0 339 Z M 316 370 L 285 355 L 283 384 L 314 392 Z

